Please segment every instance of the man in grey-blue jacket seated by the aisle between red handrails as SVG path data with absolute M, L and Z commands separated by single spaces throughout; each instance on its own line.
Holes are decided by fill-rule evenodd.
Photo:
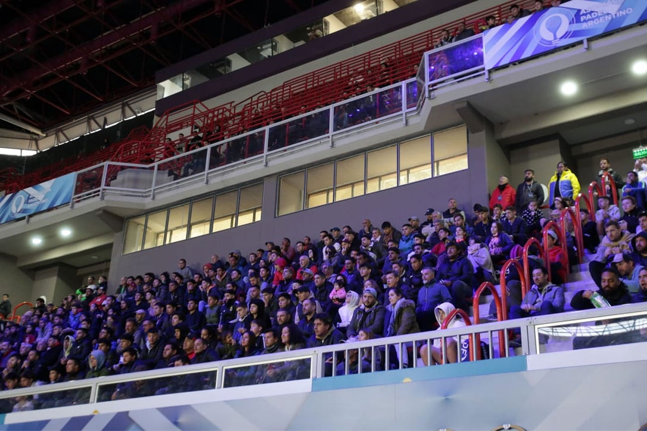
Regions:
M 509 319 L 564 311 L 564 288 L 548 281 L 548 270 L 545 267 L 532 270 L 532 282 L 534 284 L 523 297 L 521 305 L 510 307 Z

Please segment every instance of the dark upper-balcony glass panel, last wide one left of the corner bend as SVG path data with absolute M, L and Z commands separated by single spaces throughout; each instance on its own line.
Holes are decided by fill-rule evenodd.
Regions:
M 340 131 L 402 110 L 402 85 L 358 96 L 334 106 L 334 130 Z

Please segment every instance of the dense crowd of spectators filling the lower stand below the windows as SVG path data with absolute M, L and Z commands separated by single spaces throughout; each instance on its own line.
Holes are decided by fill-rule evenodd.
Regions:
M 597 223 L 582 209 L 580 220 L 571 217 L 566 224 L 566 238 L 572 238 L 573 223 L 582 224 L 586 247 L 595 253 L 591 275 L 600 287 L 599 294 L 576 293 L 570 304 L 575 309 L 592 308 L 600 300 L 619 305 L 647 299 L 647 212 L 640 206 L 645 202 L 647 160 L 637 160 L 625 182 L 603 158 L 599 176 L 605 173 L 617 185 L 622 211 L 613 199 L 600 196 Z M 534 171 L 527 169 L 516 189 L 501 176 L 489 207 L 474 205 L 476 217 L 469 220 L 450 199 L 444 211 L 428 208 L 424 221 L 413 215 L 399 224 L 400 229 L 388 221 L 375 226 L 364 219 L 359 229 L 322 230 L 316 242 L 306 236 L 293 245 L 283 238 L 247 255 L 238 249 L 225 259 L 212 255 L 199 269 L 181 258 L 175 271 L 122 277 L 113 288 L 104 276 L 89 277 L 87 285 L 60 303 L 45 304 L 39 298 L 18 322 L 4 322 L 3 388 L 435 330 L 455 308 L 468 312 L 479 284 L 494 282 L 503 262 L 518 257 L 527 238 L 541 239 L 543 224 L 559 218 L 560 209 L 571 204 L 579 183 L 564 162 L 558 163 L 548 190 L 544 196 Z M 549 209 L 540 208 L 544 202 Z M 548 231 L 547 262 L 531 258 L 533 283 L 523 299 L 519 275 L 510 271 L 507 276 L 510 318 L 558 313 L 568 306 L 560 285 L 567 267 L 575 263 L 575 255 L 569 257 L 575 243 L 567 239 L 564 253 L 559 233 Z M 5 295 L 0 313 L 11 311 Z M 464 354 L 456 341 L 450 340 L 447 350 L 450 362 Z M 389 362 L 401 359 L 406 366 L 408 357 L 400 358 L 400 353 L 390 355 Z M 422 346 L 421 355 L 425 363 L 429 358 L 432 364 L 442 359 L 436 345 Z M 347 360 L 349 364 L 331 358 L 328 366 L 336 367 L 336 373 L 357 372 L 360 366 L 370 370 L 371 364 L 378 369 L 392 366 L 382 361 L 380 352 L 358 350 Z M 227 379 L 232 384 L 254 384 L 307 373 L 309 366 L 292 361 L 256 366 Z M 208 380 L 196 377 L 186 384 L 201 388 L 212 384 Z M 174 386 L 168 382 L 144 387 L 120 384 L 104 399 L 171 390 Z M 5 399 L 0 409 L 68 405 L 84 402 L 85 396 L 52 394 Z

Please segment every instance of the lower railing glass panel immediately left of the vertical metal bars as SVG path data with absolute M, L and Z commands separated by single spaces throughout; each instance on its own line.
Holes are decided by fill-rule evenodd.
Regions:
M 254 357 L 254 359 L 260 360 L 263 357 Z M 254 365 L 226 367 L 223 388 L 310 379 L 311 370 L 311 356 L 289 361 L 266 361 Z

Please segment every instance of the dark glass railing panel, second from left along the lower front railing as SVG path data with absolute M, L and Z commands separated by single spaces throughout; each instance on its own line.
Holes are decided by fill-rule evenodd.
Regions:
M 175 370 L 177 371 L 177 370 Z M 171 377 L 150 377 L 120 383 L 98 384 L 96 401 L 115 401 L 150 397 L 153 395 L 181 394 L 199 390 L 214 390 L 217 372 L 185 372 Z

